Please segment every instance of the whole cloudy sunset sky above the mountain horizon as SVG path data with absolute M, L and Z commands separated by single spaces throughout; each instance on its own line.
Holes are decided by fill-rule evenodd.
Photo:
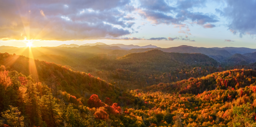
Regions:
M 0 0 L 0 45 L 256 48 L 256 0 Z

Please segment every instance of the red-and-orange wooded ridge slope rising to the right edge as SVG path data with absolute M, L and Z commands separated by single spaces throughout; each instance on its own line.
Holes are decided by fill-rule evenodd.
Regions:
M 178 82 L 147 87 L 147 90 L 174 92 L 179 94 L 200 94 L 214 89 L 239 89 L 251 84 L 256 85 L 256 71 L 234 69 L 208 74 L 200 78 L 189 78 Z

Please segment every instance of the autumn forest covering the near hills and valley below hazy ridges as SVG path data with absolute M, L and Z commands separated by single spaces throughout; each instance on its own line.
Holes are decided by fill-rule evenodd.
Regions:
M 255 63 L 69 52 L 0 53 L 0 127 L 256 127 Z

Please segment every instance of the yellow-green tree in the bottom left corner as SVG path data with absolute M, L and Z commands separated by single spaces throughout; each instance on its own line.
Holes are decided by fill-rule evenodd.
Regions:
M 11 110 L 6 110 L 2 114 L 2 117 L 7 121 L 8 125 L 12 127 L 24 127 L 24 116 L 21 116 L 21 112 L 18 107 L 10 106 Z

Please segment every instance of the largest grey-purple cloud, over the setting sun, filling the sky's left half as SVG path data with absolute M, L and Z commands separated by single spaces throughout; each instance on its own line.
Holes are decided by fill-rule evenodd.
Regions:
M 122 10 L 133 11 L 129 3 L 130 0 L 0 0 L 0 40 L 23 40 L 26 36 L 66 41 L 127 35 L 134 25 L 128 20 L 134 18 Z

